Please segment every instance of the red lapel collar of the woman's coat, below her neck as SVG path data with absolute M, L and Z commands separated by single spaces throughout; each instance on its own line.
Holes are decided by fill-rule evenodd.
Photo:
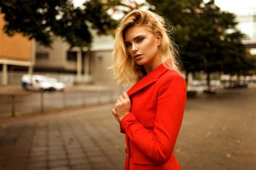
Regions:
M 147 74 L 145 77 L 140 79 L 137 83 L 135 83 L 128 91 L 127 94 L 129 97 L 136 93 L 137 91 L 140 91 L 151 84 L 155 83 L 158 78 L 163 75 L 165 72 L 167 72 L 167 68 L 164 67 L 163 63 L 161 63 L 159 66 L 157 66 L 155 69 L 153 69 L 149 74 Z

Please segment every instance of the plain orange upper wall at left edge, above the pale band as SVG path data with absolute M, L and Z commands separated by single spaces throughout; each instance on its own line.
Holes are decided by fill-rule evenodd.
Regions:
M 0 59 L 31 61 L 32 41 L 21 34 L 9 37 L 4 33 L 3 26 L 3 15 L 0 15 Z

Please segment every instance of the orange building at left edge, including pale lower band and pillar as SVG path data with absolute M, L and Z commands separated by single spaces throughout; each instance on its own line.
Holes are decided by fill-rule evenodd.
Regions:
M 21 34 L 9 37 L 3 31 L 5 21 L 0 15 L 0 67 L 2 69 L 1 84 L 8 85 L 8 72 L 12 67 L 24 67 L 32 74 L 35 65 L 36 43 Z

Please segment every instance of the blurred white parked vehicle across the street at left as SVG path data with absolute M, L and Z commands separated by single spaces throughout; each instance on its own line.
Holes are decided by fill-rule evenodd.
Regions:
M 44 75 L 22 76 L 22 87 L 26 90 L 64 90 L 65 84 L 58 82 L 57 79 Z

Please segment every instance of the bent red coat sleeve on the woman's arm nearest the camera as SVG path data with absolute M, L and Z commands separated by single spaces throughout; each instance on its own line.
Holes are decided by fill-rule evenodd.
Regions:
M 160 81 L 160 80 L 159 80 Z M 122 131 L 157 165 L 171 157 L 186 104 L 186 82 L 180 75 L 161 80 L 153 132 L 144 128 L 132 112 L 120 122 Z

